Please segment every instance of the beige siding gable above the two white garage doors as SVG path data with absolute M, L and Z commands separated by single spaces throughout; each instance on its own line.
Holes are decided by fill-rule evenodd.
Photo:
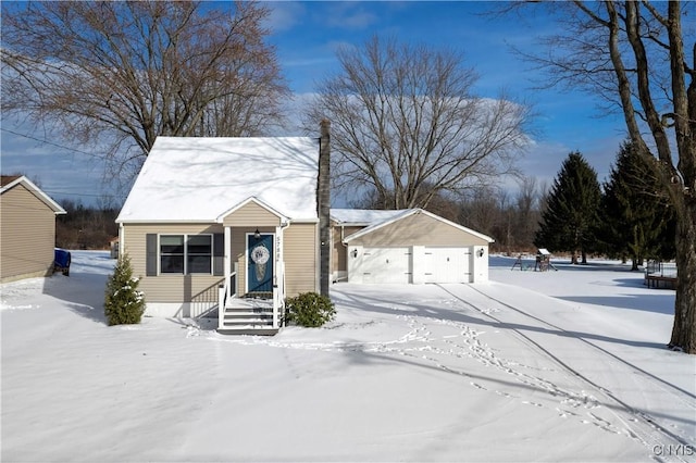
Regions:
M 425 214 L 413 214 L 350 240 L 351 246 L 488 246 L 488 241 Z

